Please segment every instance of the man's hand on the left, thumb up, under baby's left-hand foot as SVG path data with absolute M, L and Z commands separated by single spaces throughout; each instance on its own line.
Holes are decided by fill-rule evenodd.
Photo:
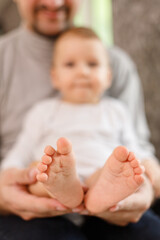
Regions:
M 8 169 L 0 173 L 0 212 L 16 214 L 24 220 L 63 215 L 69 212 L 55 199 L 36 197 L 27 185 L 36 182 L 36 170 Z

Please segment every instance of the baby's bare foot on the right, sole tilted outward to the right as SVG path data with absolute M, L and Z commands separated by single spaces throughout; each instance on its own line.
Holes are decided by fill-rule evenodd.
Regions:
M 101 170 L 96 183 L 85 197 L 87 209 L 99 213 L 134 193 L 144 182 L 143 168 L 132 152 L 115 148 Z

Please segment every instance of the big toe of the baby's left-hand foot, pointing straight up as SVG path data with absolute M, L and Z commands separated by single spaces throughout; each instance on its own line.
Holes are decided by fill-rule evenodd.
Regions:
M 69 154 L 72 151 L 72 144 L 66 138 L 59 138 L 57 141 L 57 152 L 60 154 Z

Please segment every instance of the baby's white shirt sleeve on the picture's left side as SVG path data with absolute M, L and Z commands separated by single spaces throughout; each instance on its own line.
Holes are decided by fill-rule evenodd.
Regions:
M 24 168 L 35 160 L 33 159 L 33 150 L 43 131 L 43 116 L 40 105 L 28 112 L 15 145 L 2 160 L 1 169 Z

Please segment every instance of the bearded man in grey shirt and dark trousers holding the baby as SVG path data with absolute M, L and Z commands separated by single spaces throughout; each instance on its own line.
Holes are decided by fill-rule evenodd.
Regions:
M 37 101 L 55 94 L 49 77 L 53 41 L 61 31 L 72 25 L 79 2 L 16 0 L 23 26 L 0 40 L 1 159 L 16 141 L 26 111 Z M 110 58 L 113 86 L 109 94 L 128 104 L 139 142 L 149 156 L 154 158 L 152 146 L 148 143 L 141 86 L 135 66 L 128 56 L 116 48 L 110 50 Z M 160 233 L 152 230 L 153 225 L 160 228 L 159 219 L 153 214 L 147 212 L 139 221 L 154 198 L 147 178 L 141 190 L 122 201 L 119 209 L 115 209 L 115 212 L 99 213 L 96 216 L 98 218 L 87 216 L 79 229 L 60 216 L 68 213 L 60 203 L 53 199 L 38 198 L 27 192 L 26 185 L 36 181 L 35 174 L 34 168 L 9 169 L 0 173 L 1 240 L 17 240 L 22 237 L 45 237 L 47 240 L 97 237 L 109 239 L 110 236 L 111 239 L 117 239 L 120 234 L 124 239 L 135 236 L 140 236 L 140 239 L 145 239 L 146 236 L 152 236 L 152 239 L 160 238 Z M 6 216 L 8 214 L 20 218 Z M 83 211 L 81 214 L 87 212 Z M 138 223 L 120 227 L 130 222 Z M 146 226 L 147 232 L 144 232 Z M 89 231 L 91 227 L 96 231 L 92 231 L 92 235 Z

